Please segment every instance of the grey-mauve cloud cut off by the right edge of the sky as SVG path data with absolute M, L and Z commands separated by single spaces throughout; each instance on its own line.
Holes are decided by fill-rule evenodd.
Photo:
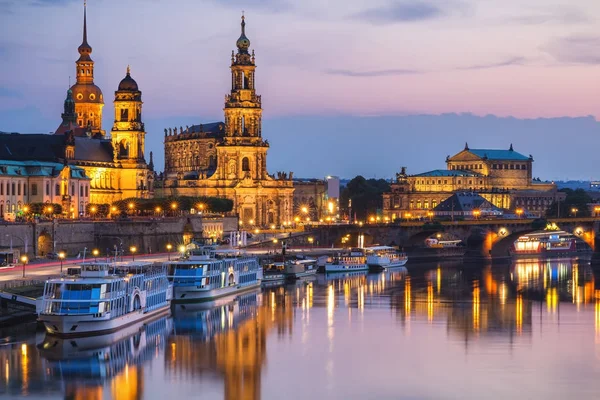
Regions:
M 600 36 L 573 35 L 557 38 L 542 46 L 557 61 L 575 64 L 600 64 Z

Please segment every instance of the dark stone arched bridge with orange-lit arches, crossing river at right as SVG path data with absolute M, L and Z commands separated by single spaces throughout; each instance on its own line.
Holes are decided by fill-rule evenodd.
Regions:
M 508 255 L 512 243 L 521 235 L 546 227 L 569 232 L 595 252 L 600 217 L 541 219 L 489 219 L 468 221 L 408 221 L 377 224 L 332 224 L 306 227 L 306 236 L 321 246 L 356 246 L 363 235 L 365 246 L 372 244 L 411 248 L 424 245 L 427 238 L 462 240 L 469 254 L 485 258 Z

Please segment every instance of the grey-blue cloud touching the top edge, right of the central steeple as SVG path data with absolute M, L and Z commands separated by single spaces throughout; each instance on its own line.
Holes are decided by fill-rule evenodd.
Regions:
M 397 22 L 415 22 L 438 18 L 445 11 L 437 5 L 410 0 L 382 7 L 370 8 L 354 14 L 352 18 L 372 24 L 393 24 Z

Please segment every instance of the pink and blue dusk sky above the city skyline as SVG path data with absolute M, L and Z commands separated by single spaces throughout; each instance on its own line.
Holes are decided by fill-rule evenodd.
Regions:
M 595 0 L 88 0 L 104 129 L 127 65 L 156 169 L 165 127 L 222 120 L 242 10 L 270 172 L 419 173 L 469 142 L 513 143 L 542 179 L 600 179 Z M 0 131 L 59 125 L 82 14 L 0 0 Z

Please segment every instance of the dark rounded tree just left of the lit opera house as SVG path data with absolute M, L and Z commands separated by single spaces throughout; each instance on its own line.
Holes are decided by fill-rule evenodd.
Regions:
M 375 214 L 383 207 L 383 193 L 390 191 L 390 184 L 385 179 L 365 179 L 357 176 L 352 179 L 340 194 L 342 210 L 347 214 L 348 201 L 352 200 L 350 220 L 365 221 L 369 215 Z

